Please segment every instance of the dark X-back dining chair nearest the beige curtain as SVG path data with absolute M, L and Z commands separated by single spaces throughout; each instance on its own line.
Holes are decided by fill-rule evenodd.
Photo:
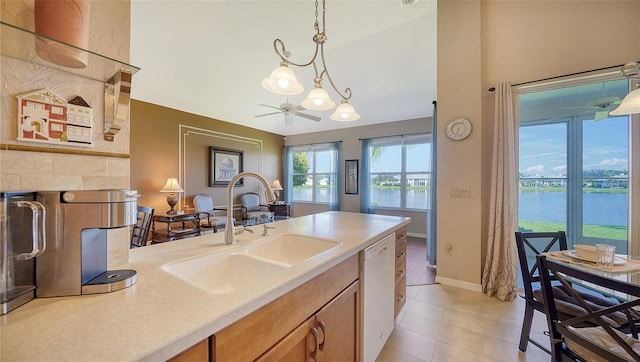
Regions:
M 540 276 L 536 255 L 547 251 L 567 250 L 567 235 L 564 231 L 544 232 L 544 233 L 523 233 L 516 232 L 516 247 L 518 248 L 518 259 L 520 261 L 520 272 L 522 273 L 522 283 L 524 295 L 520 297 L 525 300 L 524 320 L 522 321 L 522 331 L 520 332 L 521 351 L 526 352 L 529 342 L 547 353 L 549 349 L 537 341 L 530 338 L 533 314 L 537 310 L 544 313 L 542 301 L 536 299 L 534 286 L 539 290 Z M 530 261 L 533 263 L 530 265 Z

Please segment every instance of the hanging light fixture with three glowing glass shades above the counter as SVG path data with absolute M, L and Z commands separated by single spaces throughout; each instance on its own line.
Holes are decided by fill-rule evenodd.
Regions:
M 298 82 L 295 74 L 291 69 L 289 69 L 289 65 L 294 65 L 296 67 L 306 67 L 309 65 L 313 65 L 313 70 L 315 71 L 315 79 L 314 79 L 314 88 L 309 92 L 307 98 L 300 103 L 304 108 L 310 110 L 328 110 L 332 109 L 336 106 L 335 102 L 331 100 L 329 94 L 324 88 L 322 88 L 322 81 L 324 79 L 329 81 L 333 90 L 340 95 L 342 98 L 342 103 L 338 108 L 336 108 L 336 112 L 331 115 L 331 119 L 334 121 L 355 121 L 360 119 L 360 115 L 356 113 L 355 109 L 352 105 L 349 104 L 349 99 L 351 99 L 351 89 L 346 88 L 344 93 L 340 92 L 336 85 L 333 83 L 331 79 L 331 75 L 327 70 L 327 65 L 324 60 L 324 43 L 327 40 L 327 36 L 325 33 L 325 0 L 322 0 L 322 29 L 320 29 L 320 24 L 318 22 L 318 0 L 315 2 L 316 7 L 316 21 L 313 25 L 313 28 L 316 31 L 316 34 L 313 36 L 313 42 L 316 43 L 316 50 L 313 53 L 313 57 L 307 63 L 294 63 L 287 59 L 288 52 L 284 47 L 284 42 L 280 39 L 276 39 L 273 41 L 273 49 L 276 54 L 280 57 L 280 66 L 276 68 L 268 78 L 265 78 L 262 81 L 262 87 L 266 90 L 276 93 L 276 94 L 284 94 L 284 95 L 296 95 L 304 92 L 304 87 L 302 84 Z M 318 66 L 316 65 L 316 59 L 320 58 L 322 62 L 322 70 L 318 73 Z

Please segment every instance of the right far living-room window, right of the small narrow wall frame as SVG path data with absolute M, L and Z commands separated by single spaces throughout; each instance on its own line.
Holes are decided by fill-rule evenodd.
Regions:
M 431 136 L 427 134 L 370 139 L 363 182 L 371 208 L 427 210 L 431 185 Z

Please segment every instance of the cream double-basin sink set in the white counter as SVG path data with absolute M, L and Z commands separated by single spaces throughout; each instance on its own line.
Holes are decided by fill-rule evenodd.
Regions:
M 227 294 L 255 285 L 269 275 L 341 244 L 301 234 L 279 234 L 221 252 L 165 264 L 162 269 L 207 292 Z

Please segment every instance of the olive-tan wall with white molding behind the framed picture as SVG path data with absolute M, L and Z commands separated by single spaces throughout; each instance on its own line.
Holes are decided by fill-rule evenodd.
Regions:
M 211 146 L 244 152 L 244 171 L 258 172 L 270 182 L 282 179 L 284 138 L 273 133 L 133 100 L 131 140 L 131 187 L 142 195 L 140 205 L 158 213 L 169 209 L 159 190 L 171 176 L 185 191 L 177 208 L 193 206 L 199 193 L 212 195 L 216 206 L 226 206 L 227 188 L 209 186 Z M 244 179 L 244 185 L 234 189 L 235 204 L 245 192 L 257 192 L 266 202 L 261 185 Z

